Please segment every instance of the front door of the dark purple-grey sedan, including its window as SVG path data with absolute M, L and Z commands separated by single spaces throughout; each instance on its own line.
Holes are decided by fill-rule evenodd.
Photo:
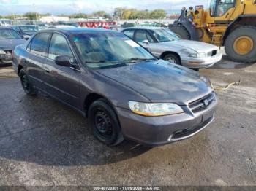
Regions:
M 48 59 L 44 64 L 45 86 L 50 95 L 77 108 L 80 97 L 80 69 L 78 65 L 77 67 L 57 65 L 55 59 L 60 55 L 68 56 L 76 63 L 67 38 L 63 34 L 53 33 L 48 49 Z

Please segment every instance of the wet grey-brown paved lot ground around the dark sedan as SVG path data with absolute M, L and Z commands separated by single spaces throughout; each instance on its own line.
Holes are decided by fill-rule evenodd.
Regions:
M 214 122 L 191 139 L 106 147 L 67 106 L 0 79 L 0 185 L 256 185 L 256 64 L 222 61 L 200 73 L 218 91 Z

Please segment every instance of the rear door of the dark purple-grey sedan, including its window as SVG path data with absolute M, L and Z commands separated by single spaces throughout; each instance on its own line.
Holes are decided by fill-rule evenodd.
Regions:
M 39 90 L 45 90 L 43 85 L 44 69 L 43 64 L 48 55 L 48 42 L 50 33 L 39 33 L 31 40 L 26 50 L 28 55 L 21 61 L 26 66 L 26 72 L 34 86 Z

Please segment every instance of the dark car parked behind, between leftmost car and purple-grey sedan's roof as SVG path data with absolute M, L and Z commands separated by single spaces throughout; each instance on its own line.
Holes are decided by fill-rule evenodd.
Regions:
M 12 28 L 20 34 L 23 39 L 29 39 L 30 36 L 39 31 L 38 26 L 24 25 L 24 26 L 12 26 Z

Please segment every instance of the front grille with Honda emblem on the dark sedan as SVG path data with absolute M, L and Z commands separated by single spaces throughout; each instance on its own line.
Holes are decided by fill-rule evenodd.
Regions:
M 214 92 L 206 95 L 203 98 L 198 99 L 197 101 L 191 102 L 189 104 L 189 108 L 192 110 L 192 112 L 197 113 L 208 108 L 208 106 L 210 106 L 213 101 L 215 101 Z

